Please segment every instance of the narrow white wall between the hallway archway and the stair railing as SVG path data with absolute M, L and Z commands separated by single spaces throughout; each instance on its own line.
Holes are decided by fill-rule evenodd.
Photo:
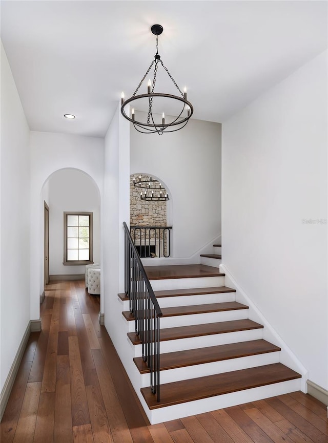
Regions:
M 126 342 L 126 331 L 119 329 L 121 305 L 117 294 L 124 292 L 124 230 L 123 222 L 129 226 L 130 205 L 130 149 L 129 123 L 117 108 L 105 137 L 105 174 L 103 235 L 105 326 L 122 359 L 121 340 Z M 124 349 L 124 348 L 123 348 Z

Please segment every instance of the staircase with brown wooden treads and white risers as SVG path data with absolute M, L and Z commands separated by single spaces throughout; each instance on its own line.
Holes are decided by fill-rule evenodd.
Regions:
M 163 316 L 160 319 L 160 402 L 128 301 L 122 314 L 140 376 L 141 402 L 151 424 L 252 402 L 300 389 L 301 375 L 280 363 L 280 348 L 263 340 L 263 326 L 235 300 L 218 266 L 220 245 L 203 255 L 214 266 L 145 267 Z

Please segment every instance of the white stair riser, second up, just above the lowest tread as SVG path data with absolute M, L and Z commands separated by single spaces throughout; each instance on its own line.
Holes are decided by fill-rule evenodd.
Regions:
M 280 351 L 266 354 L 250 355 L 247 357 L 232 358 L 221 362 L 204 363 L 195 366 L 160 371 L 160 384 L 179 382 L 190 378 L 206 375 L 221 374 L 223 372 L 238 371 L 239 369 L 279 363 Z M 142 387 L 150 385 L 150 374 L 142 374 Z

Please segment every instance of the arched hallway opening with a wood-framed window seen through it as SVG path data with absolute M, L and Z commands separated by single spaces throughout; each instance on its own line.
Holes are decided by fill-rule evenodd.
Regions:
M 100 264 L 98 186 L 87 173 L 76 168 L 62 168 L 47 178 L 42 187 L 41 197 L 49 207 L 47 260 L 50 281 L 84 278 L 87 263 Z M 67 213 L 80 216 L 68 218 L 67 215 L 65 216 Z M 90 217 L 88 218 L 86 214 L 90 214 Z M 75 219 L 78 220 L 78 225 L 71 227 Z M 70 260 L 70 258 L 76 260 Z

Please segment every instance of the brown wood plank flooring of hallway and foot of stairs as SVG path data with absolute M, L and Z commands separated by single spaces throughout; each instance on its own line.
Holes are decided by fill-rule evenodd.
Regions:
M 149 425 L 84 281 L 54 282 L 1 423 L 1 443 L 328 443 L 301 392 Z

